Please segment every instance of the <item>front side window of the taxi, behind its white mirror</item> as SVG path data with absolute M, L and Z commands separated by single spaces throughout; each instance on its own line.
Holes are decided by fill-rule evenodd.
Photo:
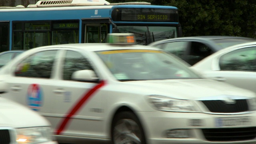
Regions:
M 68 50 L 63 65 L 63 79 L 71 80 L 73 72 L 78 70 L 93 70 L 88 59 L 79 52 Z

